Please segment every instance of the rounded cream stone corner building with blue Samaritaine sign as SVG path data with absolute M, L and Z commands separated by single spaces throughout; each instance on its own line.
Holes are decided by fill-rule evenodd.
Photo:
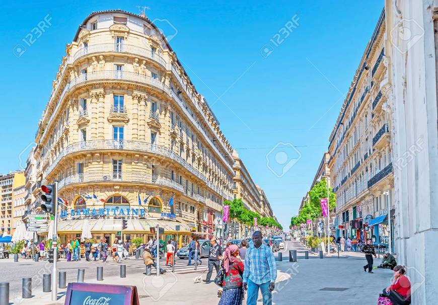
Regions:
M 192 232 L 222 234 L 232 147 L 144 15 L 112 10 L 84 20 L 66 46 L 35 142 L 28 186 L 58 181 L 61 243 L 80 236 L 87 217 L 93 236 L 109 242 L 121 238 L 122 216 L 123 239 L 146 241 L 157 223 L 180 243 Z

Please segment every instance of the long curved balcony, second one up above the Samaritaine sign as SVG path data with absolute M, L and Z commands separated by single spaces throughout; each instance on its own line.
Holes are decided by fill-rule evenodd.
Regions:
M 164 156 L 170 158 L 183 166 L 190 173 L 201 179 L 210 189 L 215 191 L 216 193 L 224 196 L 226 199 L 231 199 L 231 196 L 224 193 L 223 190 L 220 190 L 217 186 L 208 181 L 208 179 L 197 169 L 195 169 L 191 164 L 186 162 L 179 155 L 175 154 L 171 149 L 151 143 L 145 143 L 140 141 L 132 141 L 132 140 L 89 140 L 84 142 L 78 142 L 74 144 L 70 144 L 59 152 L 59 155 L 53 160 L 53 162 L 48 166 L 44 173 L 44 177 L 47 177 L 53 169 L 59 164 L 62 158 L 74 154 L 79 151 L 87 151 L 87 150 L 111 150 L 111 149 L 124 149 L 131 151 L 141 151 L 141 152 L 149 152 L 151 154 L 156 154 L 160 156 Z

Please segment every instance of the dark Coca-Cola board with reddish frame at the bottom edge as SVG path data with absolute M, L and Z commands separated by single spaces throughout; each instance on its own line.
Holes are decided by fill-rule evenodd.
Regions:
M 139 305 L 137 287 L 68 283 L 64 305 Z

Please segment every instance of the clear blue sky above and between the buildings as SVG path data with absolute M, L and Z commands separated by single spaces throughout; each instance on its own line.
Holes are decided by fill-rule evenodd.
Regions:
M 161 20 L 158 26 L 174 36 L 170 44 L 197 91 L 209 102 L 253 180 L 265 190 L 280 223 L 288 227 L 327 149 L 345 93 L 383 8 L 381 0 L 348 5 L 290 0 L 251 5 L 3 2 L 8 14 L 0 28 L 5 42 L 0 49 L 4 59 L 0 81 L 7 102 L 0 173 L 20 168 L 20 156 L 27 158 L 26 148 L 34 139 L 65 46 L 78 25 L 93 11 L 138 13 L 137 6 L 149 6 L 147 16 Z M 47 14 L 50 28 L 26 45 L 20 57 L 15 56 L 16 45 L 23 44 L 22 39 Z M 298 20 L 298 25 L 285 29 L 291 20 Z M 299 157 L 295 164 L 289 163 Z M 286 165 L 290 169 L 277 177 Z

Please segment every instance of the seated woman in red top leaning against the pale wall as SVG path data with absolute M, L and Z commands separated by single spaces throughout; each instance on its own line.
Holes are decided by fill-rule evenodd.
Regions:
M 394 279 L 391 286 L 383 289 L 383 295 L 387 296 L 394 305 L 408 305 L 411 303 L 411 283 L 407 278 L 403 266 L 394 267 Z

